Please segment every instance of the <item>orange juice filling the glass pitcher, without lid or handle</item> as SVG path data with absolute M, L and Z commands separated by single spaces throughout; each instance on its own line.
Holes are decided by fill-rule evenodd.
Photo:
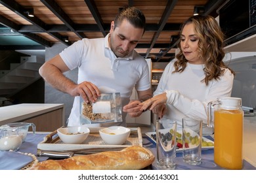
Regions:
M 216 110 L 214 161 L 226 169 L 242 169 L 243 111 Z

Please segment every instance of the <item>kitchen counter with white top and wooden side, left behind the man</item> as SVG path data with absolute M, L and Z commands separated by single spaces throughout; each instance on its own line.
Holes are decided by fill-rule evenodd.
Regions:
M 54 131 L 64 125 L 63 104 L 23 103 L 0 107 L 0 125 L 14 122 L 35 124 L 36 131 Z

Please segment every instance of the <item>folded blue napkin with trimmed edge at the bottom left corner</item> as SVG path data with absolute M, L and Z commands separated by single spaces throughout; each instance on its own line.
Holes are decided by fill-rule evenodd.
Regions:
M 0 152 L 0 170 L 20 170 L 33 161 L 31 156 L 20 152 Z

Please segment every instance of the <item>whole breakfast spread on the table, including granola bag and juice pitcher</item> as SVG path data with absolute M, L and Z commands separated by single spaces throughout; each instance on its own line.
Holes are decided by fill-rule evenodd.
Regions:
M 101 125 L 122 119 L 118 93 L 94 104 L 81 99 L 79 125 L 49 132 L 28 122 L 0 126 L 0 170 L 255 170 L 256 126 L 241 103 L 209 103 L 211 133 L 203 133 L 202 119 L 188 117 L 182 125 L 158 119 L 154 131 L 142 133 L 140 126 Z

